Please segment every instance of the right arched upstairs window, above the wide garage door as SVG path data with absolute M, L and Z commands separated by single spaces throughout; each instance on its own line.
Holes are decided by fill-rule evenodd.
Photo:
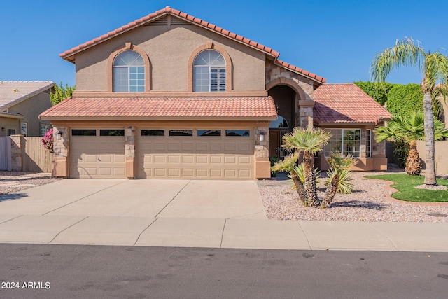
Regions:
M 225 92 L 225 59 L 215 50 L 204 50 L 193 62 L 194 92 Z

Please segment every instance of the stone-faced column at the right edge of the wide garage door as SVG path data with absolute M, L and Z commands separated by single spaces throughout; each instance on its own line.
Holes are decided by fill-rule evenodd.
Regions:
M 269 121 L 259 121 L 255 127 L 255 178 L 271 177 L 269 161 Z M 260 140 L 262 139 L 262 140 Z

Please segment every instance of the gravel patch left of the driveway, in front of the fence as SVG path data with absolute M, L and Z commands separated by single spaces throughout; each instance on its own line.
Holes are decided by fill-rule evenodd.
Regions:
M 61 179 L 42 172 L 0 171 L 0 196 L 59 180 Z

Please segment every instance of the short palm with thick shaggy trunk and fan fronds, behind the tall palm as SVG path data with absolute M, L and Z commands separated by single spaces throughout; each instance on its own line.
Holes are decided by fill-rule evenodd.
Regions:
M 409 153 L 407 155 L 405 170 L 409 175 L 419 175 L 421 162 L 417 151 L 417 140 L 425 139 L 424 116 L 422 111 L 414 111 L 409 116 L 393 116 L 387 127 L 377 127 L 374 130 L 377 142 L 393 141 L 395 144 L 407 144 Z M 448 130 L 444 124 L 434 118 L 434 139 L 441 140 L 448 137 Z

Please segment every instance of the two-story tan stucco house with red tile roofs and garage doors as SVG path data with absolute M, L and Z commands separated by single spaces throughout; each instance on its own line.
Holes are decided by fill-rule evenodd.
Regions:
M 55 127 L 57 176 L 267 178 L 269 156 L 285 154 L 281 136 L 314 123 L 341 129 L 333 150 L 355 153 L 364 161 L 360 169 L 386 167 L 384 146 L 374 143 L 367 127 L 390 115 L 373 99 L 358 90 L 376 109 L 360 113 L 365 119 L 328 123 L 325 113 L 339 109 L 342 115 L 342 105 L 321 109 L 316 123 L 314 110 L 325 103 L 316 106 L 315 91 L 325 86 L 324 78 L 176 9 L 151 13 L 61 57 L 76 64 L 76 91 L 41 114 Z M 344 93 L 347 86 L 354 85 L 335 89 L 352 97 Z M 356 142 L 344 146 L 348 134 Z

